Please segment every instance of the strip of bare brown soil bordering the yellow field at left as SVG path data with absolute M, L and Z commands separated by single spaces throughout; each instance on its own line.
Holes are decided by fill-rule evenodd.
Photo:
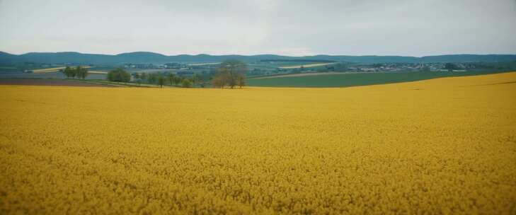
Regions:
M 65 79 L 0 79 L 0 85 L 25 85 L 25 86 L 102 86 L 100 83 L 88 83 L 82 81 L 65 80 Z

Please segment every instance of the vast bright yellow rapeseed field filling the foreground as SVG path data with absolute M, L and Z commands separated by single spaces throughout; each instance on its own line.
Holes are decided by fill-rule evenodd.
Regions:
M 516 213 L 516 73 L 0 104 L 0 214 Z

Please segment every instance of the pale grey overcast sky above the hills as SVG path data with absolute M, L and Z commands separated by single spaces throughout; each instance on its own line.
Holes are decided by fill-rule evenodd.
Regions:
M 516 0 L 0 0 L 0 51 L 516 54 Z

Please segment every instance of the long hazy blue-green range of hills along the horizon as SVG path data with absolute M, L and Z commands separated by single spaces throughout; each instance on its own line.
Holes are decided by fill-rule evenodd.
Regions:
M 168 63 L 168 62 L 221 62 L 224 59 L 239 59 L 246 62 L 263 60 L 321 60 L 356 63 L 430 63 L 430 62 L 509 62 L 516 61 L 516 54 L 451 54 L 425 57 L 403 56 L 345 56 L 314 55 L 289 57 L 275 54 L 258 55 L 210 55 L 180 54 L 166 56 L 154 52 L 130 52 L 123 54 L 83 54 L 79 52 L 29 52 L 9 54 L 0 52 L 0 64 L 35 62 L 47 64 L 124 64 L 124 63 Z

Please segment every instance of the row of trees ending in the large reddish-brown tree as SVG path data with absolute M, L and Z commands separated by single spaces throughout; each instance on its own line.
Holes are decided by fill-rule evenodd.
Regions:
M 193 76 L 179 76 L 171 72 L 168 73 L 145 73 L 134 72 L 130 74 L 122 68 L 113 69 L 108 72 L 108 81 L 130 82 L 138 85 L 142 83 L 156 84 L 160 87 L 164 85 L 180 86 L 191 88 L 199 86 L 205 88 L 209 83 L 215 88 L 234 88 L 235 86 L 246 86 L 247 65 L 238 60 L 227 60 L 219 64 L 214 74 L 194 74 Z

